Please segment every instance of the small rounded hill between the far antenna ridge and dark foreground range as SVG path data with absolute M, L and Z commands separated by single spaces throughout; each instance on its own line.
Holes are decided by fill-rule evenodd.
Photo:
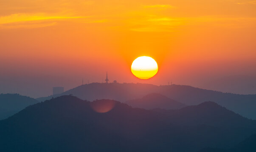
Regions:
M 180 109 L 186 106 L 159 93 L 150 93 L 143 98 L 128 100 L 125 103 L 132 107 L 143 109 Z

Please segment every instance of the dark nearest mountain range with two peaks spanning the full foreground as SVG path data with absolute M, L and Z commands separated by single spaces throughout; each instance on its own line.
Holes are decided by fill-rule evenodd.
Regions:
M 255 120 L 213 102 L 146 110 L 65 95 L 0 121 L 0 151 L 197 152 L 204 147 L 228 149 L 253 133 Z

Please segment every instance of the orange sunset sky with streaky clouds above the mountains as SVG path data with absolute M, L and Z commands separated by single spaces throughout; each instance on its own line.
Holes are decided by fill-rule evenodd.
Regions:
M 0 93 L 38 98 L 108 71 L 120 83 L 252 94 L 255 35 L 255 0 L 0 0 Z M 152 79 L 132 75 L 140 56 L 158 62 Z M 248 91 L 212 86 L 229 76 L 252 77 Z

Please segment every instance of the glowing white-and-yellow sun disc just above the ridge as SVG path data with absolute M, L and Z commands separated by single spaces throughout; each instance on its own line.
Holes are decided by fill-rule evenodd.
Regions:
M 138 57 L 132 62 L 131 71 L 139 79 L 149 79 L 158 73 L 158 64 L 152 57 Z

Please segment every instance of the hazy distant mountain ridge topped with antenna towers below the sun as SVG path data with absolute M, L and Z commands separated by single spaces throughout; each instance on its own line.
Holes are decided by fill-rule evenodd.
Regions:
M 250 119 L 256 119 L 256 95 L 238 95 L 212 90 L 204 90 L 184 85 L 156 86 L 152 84 L 132 83 L 91 83 L 68 90 L 61 95 L 75 95 L 83 100 L 113 99 L 121 102 L 143 98 L 150 93 L 159 93 L 186 105 L 197 105 L 205 101 L 214 101 L 227 109 Z M 61 96 L 56 95 L 56 96 Z M 37 98 L 39 101 L 51 99 Z

